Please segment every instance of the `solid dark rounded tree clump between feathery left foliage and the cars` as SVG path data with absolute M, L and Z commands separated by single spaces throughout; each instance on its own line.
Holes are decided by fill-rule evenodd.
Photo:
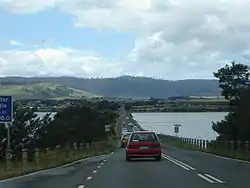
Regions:
M 58 112 L 48 124 L 44 142 L 55 146 L 102 140 L 105 138 L 105 125 L 112 124 L 116 117 L 113 111 L 98 110 L 95 106 L 68 107 Z

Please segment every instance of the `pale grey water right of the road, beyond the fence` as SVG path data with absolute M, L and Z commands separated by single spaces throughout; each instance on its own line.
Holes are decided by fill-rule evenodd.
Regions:
M 133 113 L 133 116 L 147 130 L 175 135 L 173 124 L 180 123 L 179 136 L 213 140 L 218 134 L 212 129 L 212 121 L 220 121 L 226 114 L 226 112 Z

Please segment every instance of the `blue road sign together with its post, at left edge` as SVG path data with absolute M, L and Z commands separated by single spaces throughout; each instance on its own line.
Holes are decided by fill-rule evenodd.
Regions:
M 13 100 L 12 96 L 0 96 L 0 123 L 5 123 L 7 126 L 7 149 L 6 149 L 6 162 L 12 158 L 11 154 L 11 134 L 10 128 L 13 121 Z

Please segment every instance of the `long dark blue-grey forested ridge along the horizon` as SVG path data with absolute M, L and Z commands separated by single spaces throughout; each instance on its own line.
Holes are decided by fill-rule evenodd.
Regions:
M 4 77 L 0 84 L 53 83 L 83 90 L 105 97 L 154 97 L 170 96 L 218 96 L 217 80 L 160 80 L 148 77 L 121 76 L 117 78 L 75 77 Z

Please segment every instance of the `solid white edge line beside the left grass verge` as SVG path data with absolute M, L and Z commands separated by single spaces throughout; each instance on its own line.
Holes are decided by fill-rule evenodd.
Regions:
M 96 158 L 96 157 L 102 157 L 102 156 L 106 156 L 106 155 L 107 155 L 107 154 L 92 156 L 92 157 L 80 159 L 80 160 L 78 160 L 78 161 L 74 161 L 74 162 L 72 162 L 72 163 L 68 163 L 68 164 L 65 164 L 65 165 L 62 165 L 62 166 L 58 166 L 58 167 L 55 167 L 55 168 L 50 168 L 50 169 L 46 169 L 46 170 L 41 170 L 41 171 L 37 171 L 37 172 L 32 172 L 32 173 L 25 174 L 25 175 L 18 176 L 18 177 L 13 177 L 13 178 L 5 179 L 5 180 L 0 180 L 0 183 L 4 183 L 4 182 L 8 182 L 8 181 L 13 181 L 13 180 L 18 180 L 18 179 L 21 179 L 21 178 L 25 178 L 25 177 L 37 175 L 37 174 L 44 173 L 44 172 L 49 172 L 49 171 L 51 171 L 51 170 L 55 170 L 55 169 L 59 169 L 59 168 L 64 168 L 64 167 L 71 166 L 71 165 L 76 164 L 76 163 L 79 163 L 79 162 L 87 161 L 87 160 L 90 160 L 90 159 L 93 159 L 93 158 Z

